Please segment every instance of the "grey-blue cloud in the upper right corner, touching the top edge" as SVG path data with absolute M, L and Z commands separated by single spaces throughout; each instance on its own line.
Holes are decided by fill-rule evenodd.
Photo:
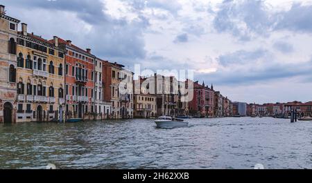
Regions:
M 271 12 L 264 1 L 223 1 L 214 17 L 218 32 L 230 32 L 242 41 L 268 37 L 275 30 L 312 32 L 312 6 L 294 3 L 291 10 Z

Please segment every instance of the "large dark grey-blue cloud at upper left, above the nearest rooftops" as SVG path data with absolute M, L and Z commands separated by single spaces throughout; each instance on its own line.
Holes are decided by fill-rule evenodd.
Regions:
M 131 22 L 124 18 L 115 19 L 103 11 L 105 3 L 99 0 L 4 0 L 3 3 L 8 10 L 12 10 L 13 17 L 28 23 L 30 27 L 36 24 L 38 30 L 35 34 L 71 39 L 73 44 L 82 48 L 92 48 L 92 52 L 103 59 L 118 59 L 114 61 L 129 63 L 130 60 L 146 56 L 143 37 L 144 30 L 149 26 L 146 17 L 139 16 Z M 51 22 L 40 17 L 38 10 L 45 10 L 44 14 L 48 15 L 46 18 L 51 19 Z M 19 12 L 23 12 L 24 16 L 20 17 Z M 73 20 L 64 17 L 64 12 L 73 13 L 78 19 L 91 25 L 91 29 L 88 32 L 76 30 L 80 27 L 73 26 Z

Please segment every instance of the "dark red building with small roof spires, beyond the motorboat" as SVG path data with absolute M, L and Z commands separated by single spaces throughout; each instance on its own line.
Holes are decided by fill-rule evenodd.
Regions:
M 214 117 L 215 113 L 215 94 L 213 86 L 209 88 L 198 84 L 198 81 L 193 83 L 193 99 L 189 102 L 189 110 L 191 115 L 198 117 Z

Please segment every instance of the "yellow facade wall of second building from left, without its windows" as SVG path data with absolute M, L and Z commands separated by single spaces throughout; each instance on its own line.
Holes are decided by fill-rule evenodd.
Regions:
M 24 63 L 23 66 L 17 67 L 17 86 L 18 88 L 20 88 L 20 84 L 24 84 L 24 91 L 17 97 L 17 108 L 19 109 L 19 111 L 17 112 L 17 122 L 47 122 L 62 118 L 60 116 L 62 115 L 62 111 L 64 111 L 64 97 L 59 96 L 59 89 L 64 89 L 64 57 L 59 57 L 58 53 L 62 52 L 62 54 L 64 55 L 64 50 L 58 50 L 58 48 L 48 47 L 46 46 L 48 44 L 38 39 L 34 39 L 33 35 L 19 35 L 19 40 L 24 40 L 24 46 L 20 44 L 17 46 L 17 54 L 23 55 Z M 26 40 L 31 43 L 39 44 L 41 46 L 46 46 L 46 48 L 48 48 L 47 52 L 42 52 L 33 48 L 26 47 Z M 54 50 L 54 55 L 49 54 L 49 49 Z M 26 58 L 28 57 L 30 57 L 31 62 L 33 63 L 33 68 L 26 68 Z M 45 71 L 43 71 L 42 69 L 40 70 L 42 74 L 37 75 L 35 71 L 37 71 L 38 69 L 35 69 L 35 61 L 39 61 L 40 59 L 42 60 L 43 64 L 44 60 L 46 61 Z M 53 62 L 54 66 L 54 74 L 49 73 L 49 66 L 51 61 Z M 62 70 L 62 75 L 58 75 L 59 70 Z M 30 87 L 32 88 L 32 93 L 27 93 L 27 84 L 31 84 Z M 39 85 L 45 87 L 45 95 L 40 96 L 44 97 L 44 99 L 37 100 L 36 97 L 38 97 Z M 36 88 L 34 88 L 34 86 Z M 53 87 L 54 97 L 49 97 L 50 86 Z M 31 106 L 31 110 L 27 110 L 28 105 Z M 19 106 L 22 107 L 19 108 Z M 39 117 L 40 111 L 38 111 L 38 106 L 42 107 L 42 117 Z M 61 113 L 59 113 L 60 111 Z

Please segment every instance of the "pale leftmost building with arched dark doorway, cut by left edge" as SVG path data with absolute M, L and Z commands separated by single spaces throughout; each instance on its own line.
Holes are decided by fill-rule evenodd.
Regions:
M 17 30 L 19 20 L 0 5 L 0 123 L 15 123 L 17 113 Z

